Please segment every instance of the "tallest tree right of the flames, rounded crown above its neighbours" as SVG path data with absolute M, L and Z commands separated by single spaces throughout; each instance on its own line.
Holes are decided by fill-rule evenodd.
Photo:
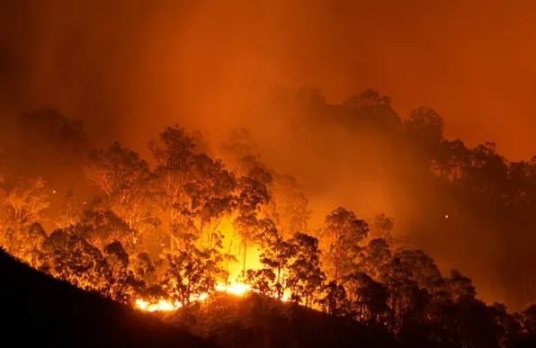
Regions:
M 357 219 L 352 210 L 339 207 L 327 215 L 324 228 L 324 239 L 328 245 L 326 261 L 330 266 L 331 279 L 335 282 L 353 272 L 361 251 L 360 243 L 368 233 L 366 221 Z

